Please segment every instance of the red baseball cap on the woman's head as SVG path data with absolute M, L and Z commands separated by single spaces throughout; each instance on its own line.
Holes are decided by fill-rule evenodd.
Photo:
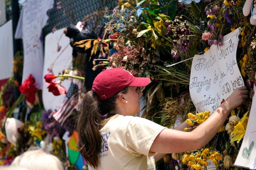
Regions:
M 122 68 L 102 70 L 92 84 L 92 90 L 99 96 L 97 100 L 106 100 L 128 86 L 143 87 L 150 83 L 150 78 L 134 77 Z

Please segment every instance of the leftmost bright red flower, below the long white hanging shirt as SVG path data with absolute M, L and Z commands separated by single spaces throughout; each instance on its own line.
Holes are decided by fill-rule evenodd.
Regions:
M 36 100 L 35 94 L 37 92 L 37 88 L 35 86 L 35 79 L 30 74 L 26 80 L 24 80 L 23 84 L 19 86 L 19 90 L 22 94 L 26 94 L 26 99 L 28 102 L 33 104 Z

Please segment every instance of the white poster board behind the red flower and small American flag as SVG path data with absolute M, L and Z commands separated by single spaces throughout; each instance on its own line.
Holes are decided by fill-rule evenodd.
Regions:
M 48 68 L 51 67 L 52 63 L 54 63 L 51 67 L 52 72 L 54 75 L 58 75 L 59 72 L 62 73 L 63 70 L 72 67 L 72 47 L 69 45 L 70 39 L 64 35 L 63 30 L 64 28 L 58 29 L 54 33 L 49 33 L 45 37 L 42 100 L 46 110 L 51 109 L 52 111 L 55 111 L 58 109 L 65 97 L 65 95 L 54 96 L 52 92 L 48 92 L 48 88 L 44 80 L 44 76 L 46 74 L 52 74 L 48 71 Z M 60 51 L 57 51 L 58 43 L 61 46 Z M 56 78 L 55 80 L 59 79 Z M 70 80 L 64 80 L 61 82 L 61 85 L 66 88 L 66 91 L 68 91 L 70 83 Z

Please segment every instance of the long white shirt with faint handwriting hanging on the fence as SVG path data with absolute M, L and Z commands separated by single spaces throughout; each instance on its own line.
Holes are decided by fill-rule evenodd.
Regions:
M 15 38 L 22 38 L 24 63 L 22 82 L 30 74 L 36 79 L 38 89 L 42 89 L 44 65 L 43 43 L 40 40 L 42 27 L 46 24 L 47 10 L 53 8 L 54 0 L 26 0 L 15 32 Z

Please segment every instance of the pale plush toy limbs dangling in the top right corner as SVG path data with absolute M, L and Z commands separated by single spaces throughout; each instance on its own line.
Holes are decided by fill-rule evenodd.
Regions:
M 252 25 L 256 24 L 256 3 L 254 3 L 254 0 L 246 0 L 243 6 L 243 14 L 244 16 L 248 16 L 250 13 L 252 13 L 250 17 L 250 23 Z

